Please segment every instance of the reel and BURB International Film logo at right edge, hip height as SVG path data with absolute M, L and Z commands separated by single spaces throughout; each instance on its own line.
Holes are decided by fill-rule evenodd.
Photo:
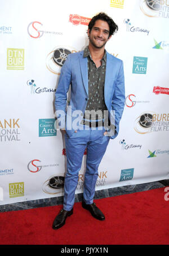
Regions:
M 145 112 L 136 118 L 134 129 L 139 134 L 167 132 L 169 131 L 169 114 Z

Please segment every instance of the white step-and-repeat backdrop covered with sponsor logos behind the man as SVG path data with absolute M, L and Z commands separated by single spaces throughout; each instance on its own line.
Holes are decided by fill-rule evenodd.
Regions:
M 96 190 L 168 179 L 169 0 L 0 3 L 0 204 L 63 196 L 66 151 L 55 129 L 55 90 L 66 56 L 88 44 L 88 22 L 100 11 L 119 27 L 106 50 L 124 62 L 126 104 Z

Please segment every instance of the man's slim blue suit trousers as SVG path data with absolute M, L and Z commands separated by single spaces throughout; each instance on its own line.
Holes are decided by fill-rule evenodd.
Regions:
M 83 154 L 86 148 L 83 200 L 86 204 L 93 202 L 99 164 L 109 143 L 109 137 L 104 136 L 104 132 L 104 127 L 88 127 L 87 129 L 85 127 L 85 129 L 78 129 L 70 137 L 65 134 L 67 170 L 64 183 L 64 210 L 70 211 L 73 208 L 78 173 L 81 170 Z

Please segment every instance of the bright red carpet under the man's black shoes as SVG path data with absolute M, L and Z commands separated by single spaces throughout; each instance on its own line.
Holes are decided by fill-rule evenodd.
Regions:
M 164 188 L 96 199 L 106 219 L 75 203 L 64 227 L 53 230 L 60 206 L 0 213 L 1 245 L 167 245 L 169 201 Z

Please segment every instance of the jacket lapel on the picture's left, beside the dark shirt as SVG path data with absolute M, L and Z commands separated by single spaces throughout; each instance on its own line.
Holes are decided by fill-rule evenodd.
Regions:
M 88 95 L 88 69 L 87 69 L 87 58 L 83 58 L 83 51 L 79 57 L 83 85 Z

